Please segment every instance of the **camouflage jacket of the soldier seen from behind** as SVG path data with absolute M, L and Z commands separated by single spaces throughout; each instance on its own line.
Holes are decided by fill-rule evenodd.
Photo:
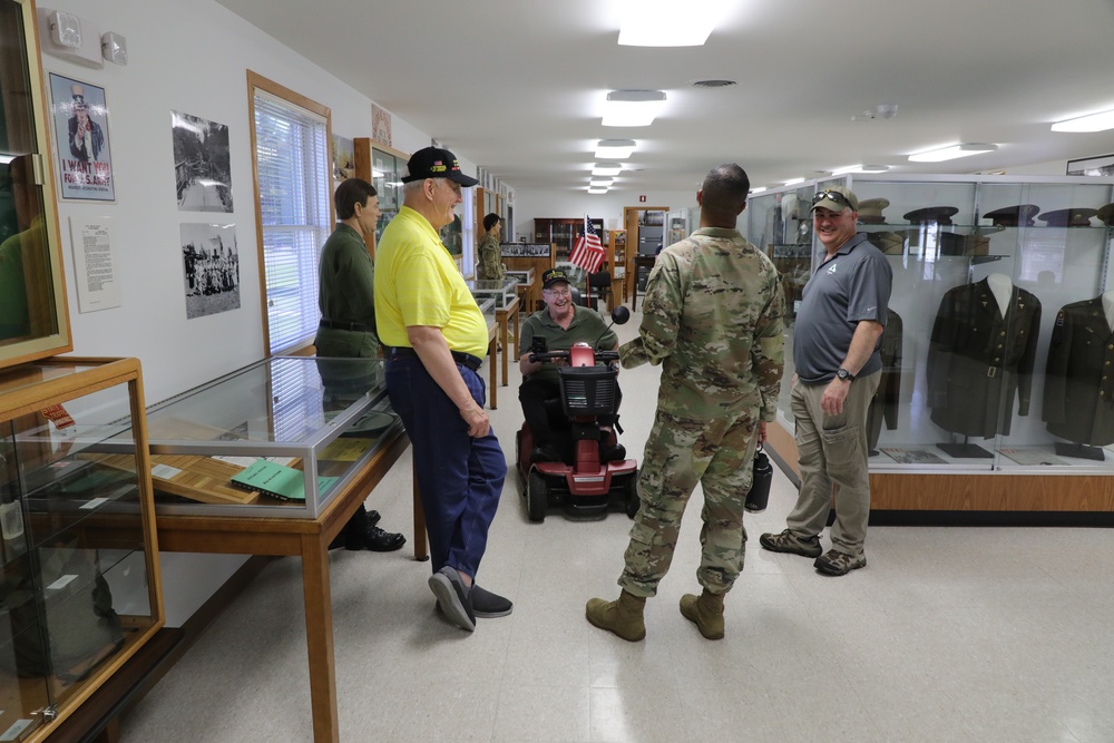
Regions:
M 784 366 L 785 294 L 773 262 L 735 229 L 701 227 L 657 256 L 624 366 L 662 364 L 658 407 L 716 419 L 752 405 L 772 421 Z

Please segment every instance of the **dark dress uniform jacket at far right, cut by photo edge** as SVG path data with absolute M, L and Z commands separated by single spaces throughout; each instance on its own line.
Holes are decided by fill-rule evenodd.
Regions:
M 1056 315 L 1042 418 L 1062 439 L 1114 443 L 1114 332 L 1101 296 L 1066 304 Z

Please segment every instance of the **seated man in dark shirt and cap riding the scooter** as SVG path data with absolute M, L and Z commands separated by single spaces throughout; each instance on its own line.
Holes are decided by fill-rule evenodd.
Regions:
M 534 452 L 530 461 L 558 462 L 563 457 L 560 447 L 555 439 L 549 416 L 546 411 L 546 400 L 560 398 L 560 382 L 557 366 L 566 363 L 564 360 L 530 361 L 530 350 L 534 339 L 545 339 L 547 351 L 566 351 L 574 343 L 587 343 L 594 349 L 617 349 L 618 338 L 604 322 L 595 310 L 583 307 L 573 302 L 573 290 L 568 276 L 561 268 L 550 268 L 541 274 L 541 299 L 546 309 L 535 312 L 525 323 L 519 333 L 518 368 L 522 372 L 522 384 L 518 388 L 518 400 L 522 403 L 522 416 L 530 424 L 534 434 Z M 615 409 L 618 411 L 623 395 L 615 387 Z M 605 426 L 615 423 L 617 416 L 602 416 L 599 422 Z M 599 450 L 602 462 L 613 459 L 625 459 L 626 449 L 622 446 L 603 447 Z

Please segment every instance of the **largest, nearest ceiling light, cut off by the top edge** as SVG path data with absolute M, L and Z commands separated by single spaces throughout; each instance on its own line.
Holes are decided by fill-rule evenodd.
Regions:
M 698 47 L 720 22 L 725 0 L 626 0 L 619 45 L 624 47 Z

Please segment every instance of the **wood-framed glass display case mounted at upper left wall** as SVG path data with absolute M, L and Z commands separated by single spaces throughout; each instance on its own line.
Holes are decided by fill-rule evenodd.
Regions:
M 0 369 L 72 349 L 30 0 L 0 2 Z

